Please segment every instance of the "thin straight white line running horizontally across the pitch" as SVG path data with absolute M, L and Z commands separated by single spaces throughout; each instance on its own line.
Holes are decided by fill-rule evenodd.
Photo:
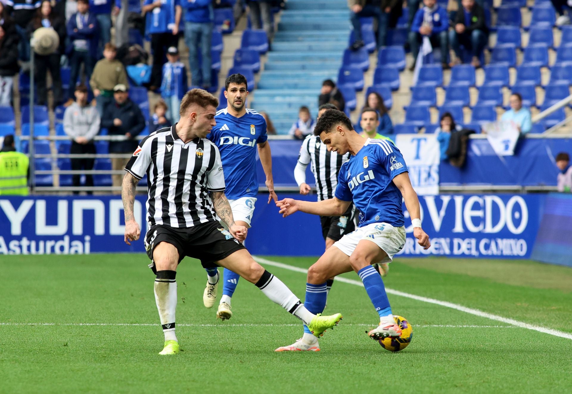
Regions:
M 0 323 L 1 325 L 65 325 L 65 326 L 142 326 L 142 327 L 157 327 L 158 323 Z M 367 323 L 349 323 L 345 325 L 371 327 L 373 324 Z M 300 327 L 300 324 L 178 324 L 177 327 Z M 445 328 L 519 328 L 514 325 L 451 325 L 451 324 L 422 324 L 415 325 L 415 327 L 445 327 Z

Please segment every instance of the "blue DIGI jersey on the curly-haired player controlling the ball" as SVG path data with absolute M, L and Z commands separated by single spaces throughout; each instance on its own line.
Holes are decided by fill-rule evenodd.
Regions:
M 359 209 L 359 227 L 386 222 L 403 226 L 403 196 L 393 178 L 407 172 L 405 160 L 391 141 L 372 140 L 340 169 L 335 196 L 353 201 Z

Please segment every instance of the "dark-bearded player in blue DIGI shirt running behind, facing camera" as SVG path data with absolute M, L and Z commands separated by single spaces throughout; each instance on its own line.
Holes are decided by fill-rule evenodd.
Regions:
M 254 205 L 258 194 L 256 177 L 256 150 L 266 175 L 266 186 L 271 200 L 278 201 L 272 179 L 272 157 L 266 134 L 264 117 L 252 109 L 245 108 L 248 96 L 247 79 L 242 74 L 232 74 L 225 81 L 227 108 L 216 113 L 216 126 L 208 135 L 220 150 L 224 166 L 225 194 L 231 203 L 237 225 L 250 228 Z M 219 271 L 206 270 L 208 281 L 202 295 L 206 308 L 212 308 L 217 297 Z M 224 269 L 223 296 L 221 297 L 217 319 L 232 317 L 231 298 L 239 281 L 239 274 Z

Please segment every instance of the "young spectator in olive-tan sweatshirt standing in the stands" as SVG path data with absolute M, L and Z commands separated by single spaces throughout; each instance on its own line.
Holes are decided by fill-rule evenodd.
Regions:
M 128 86 L 125 67 L 115 58 L 116 55 L 116 47 L 111 43 L 106 43 L 104 58 L 96 63 L 92 78 L 89 80 L 93 95 L 96 97 L 97 110 L 101 116 L 103 116 L 105 107 L 113 102 L 113 87 Z

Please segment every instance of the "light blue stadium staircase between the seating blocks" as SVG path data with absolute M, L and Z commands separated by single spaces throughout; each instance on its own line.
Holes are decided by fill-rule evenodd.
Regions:
M 336 81 L 350 30 L 347 0 L 288 0 L 251 108 L 268 112 L 279 134 L 302 105 L 316 117 L 321 82 Z

